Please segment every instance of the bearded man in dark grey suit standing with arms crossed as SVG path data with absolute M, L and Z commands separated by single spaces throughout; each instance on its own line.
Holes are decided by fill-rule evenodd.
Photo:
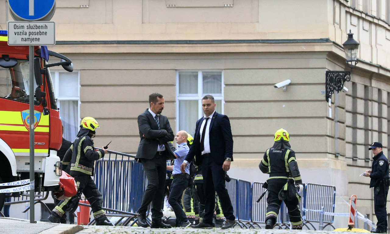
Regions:
M 159 93 L 149 95 L 149 105 L 149 109 L 138 115 L 141 140 L 135 159 L 142 163 L 148 180 L 141 207 L 138 209 L 138 225 L 148 227 L 146 211 L 152 202 L 151 228 L 170 228 L 170 225 L 161 221 L 163 217 L 161 206 L 164 199 L 167 158 L 172 159 L 173 156 L 167 142 L 174 140 L 174 133 L 168 118 L 161 115 L 164 97 Z

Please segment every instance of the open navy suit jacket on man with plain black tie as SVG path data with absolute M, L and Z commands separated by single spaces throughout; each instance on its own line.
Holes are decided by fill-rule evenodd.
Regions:
M 194 156 L 197 165 L 202 164 L 202 152 L 200 151 L 200 126 L 203 117 L 196 122 L 195 137 L 193 144 L 186 156 L 187 161 L 191 161 Z M 212 160 L 222 165 L 225 158 L 231 158 L 233 161 L 233 136 L 230 127 L 229 118 L 226 115 L 214 112 L 211 117 L 209 128 L 210 153 Z

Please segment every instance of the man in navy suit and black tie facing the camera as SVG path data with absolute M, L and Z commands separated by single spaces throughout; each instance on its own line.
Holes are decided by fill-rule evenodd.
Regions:
M 205 214 L 203 222 L 193 228 L 213 228 L 215 207 L 215 192 L 217 192 L 226 222 L 222 229 L 236 225 L 233 206 L 225 187 L 225 172 L 230 169 L 233 161 L 233 137 L 229 118 L 215 112 L 215 101 L 212 95 L 202 98 L 204 117 L 196 123 L 195 138 L 186 159 L 181 165 L 181 171 L 196 156 L 197 165 L 201 165 L 203 186 L 205 192 Z

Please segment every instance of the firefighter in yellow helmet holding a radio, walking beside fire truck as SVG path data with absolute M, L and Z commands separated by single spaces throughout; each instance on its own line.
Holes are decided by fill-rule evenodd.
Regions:
M 63 170 L 70 167 L 70 175 L 76 181 L 77 193 L 73 197 L 61 200 L 51 211 L 48 219 L 52 223 L 59 223 L 65 211 L 69 211 L 69 213 L 76 211 L 78 201 L 83 193 L 91 204 L 96 225 L 112 226 L 112 223 L 106 217 L 105 211 L 102 209 L 103 197 L 91 178 L 94 175 L 94 161 L 103 158 L 108 151 L 108 149 L 103 147 L 102 149 L 94 150 L 94 142 L 91 138 L 95 137 L 96 128 L 99 128 L 97 121 L 92 117 L 85 117 L 81 121 L 80 131 L 76 139 L 74 139 L 73 145 L 66 151 L 62 160 Z

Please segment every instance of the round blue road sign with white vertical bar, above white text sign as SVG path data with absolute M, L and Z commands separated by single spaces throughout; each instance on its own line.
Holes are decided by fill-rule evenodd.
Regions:
M 19 16 L 21 20 L 41 20 L 55 11 L 55 0 L 8 0 L 8 2 L 12 13 Z

